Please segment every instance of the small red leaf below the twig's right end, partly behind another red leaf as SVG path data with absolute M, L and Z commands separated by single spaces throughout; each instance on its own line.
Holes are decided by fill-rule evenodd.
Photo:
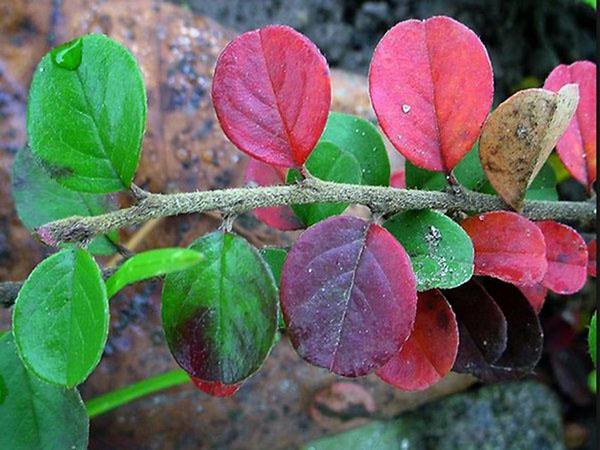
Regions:
M 546 241 L 548 270 L 542 284 L 557 294 L 574 294 L 587 279 L 585 241 L 571 227 L 552 220 L 538 222 Z

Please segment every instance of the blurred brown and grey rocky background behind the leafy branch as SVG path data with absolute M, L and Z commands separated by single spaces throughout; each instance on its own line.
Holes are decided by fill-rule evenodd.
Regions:
M 559 63 L 595 61 L 595 9 L 581 0 L 0 0 L 0 280 L 23 279 L 48 252 L 16 217 L 10 166 L 26 143 L 31 73 L 52 46 L 103 32 L 131 49 L 149 99 L 136 183 L 190 191 L 242 184 L 246 159 L 223 137 L 209 95 L 216 57 L 236 34 L 271 23 L 298 29 L 336 69 L 333 109 L 373 118 L 364 76 L 375 44 L 398 21 L 440 14 L 486 45 L 495 104 L 541 86 Z M 568 180 L 559 192 L 584 197 Z M 218 224 L 211 215 L 179 217 L 124 230 L 121 239 L 136 250 L 184 246 Z M 236 231 L 257 246 L 294 238 L 251 214 Z M 594 304 L 592 283 L 547 300 L 545 353 L 527 380 L 481 386 L 451 374 L 422 393 L 402 393 L 375 377 L 343 380 L 308 366 L 282 339 L 234 397 L 211 398 L 187 385 L 144 398 L 95 418 L 90 448 L 595 449 L 585 343 Z M 175 367 L 160 326 L 160 283 L 128 288 L 111 315 L 109 343 L 82 386 L 84 399 Z M 9 325 L 9 312 L 0 310 L 0 328 Z

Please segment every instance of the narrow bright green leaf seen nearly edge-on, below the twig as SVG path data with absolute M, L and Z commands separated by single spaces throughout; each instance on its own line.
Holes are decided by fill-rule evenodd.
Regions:
M 200 253 L 185 248 L 160 248 L 138 253 L 106 280 L 106 295 L 110 299 L 128 284 L 187 269 L 201 260 Z

